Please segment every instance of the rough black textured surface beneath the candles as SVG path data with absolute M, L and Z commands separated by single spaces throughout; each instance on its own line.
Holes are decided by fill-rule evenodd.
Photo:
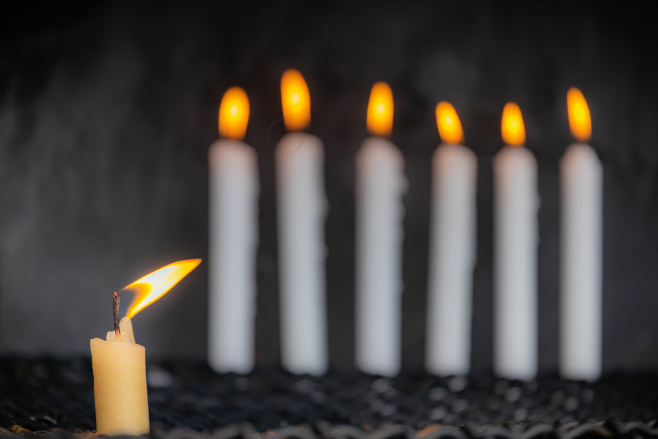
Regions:
M 594 384 L 553 377 L 520 383 L 487 375 L 381 379 L 330 372 L 315 378 L 278 370 L 241 377 L 166 362 L 150 364 L 147 380 L 151 429 L 160 437 L 196 431 L 250 438 L 300 425 L 305 427 L 284 428 L 279 435 L 358 439 L 376 432 L 381 439 L 452 432 L 459 438 L 528 438 L 598 431 L 603 437 L 626 429 L 635 431 L 629 437 L 658 435 L 655 374 L 616 375 Z M 64 434 L 92 431 L 94 419 L 88 359 L 0 358 L 0 428 Z M 522 435 L 526 430 L 530 433 Z

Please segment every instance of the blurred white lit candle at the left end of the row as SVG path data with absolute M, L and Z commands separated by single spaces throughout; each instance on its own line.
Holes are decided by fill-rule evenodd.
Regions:
M 229 88 L 219 106 L 219 134 L 210 146 L 208 363 L 217 372 L 254 368 L 258 163 L 241 141 L 249 121 L 242 88 Z

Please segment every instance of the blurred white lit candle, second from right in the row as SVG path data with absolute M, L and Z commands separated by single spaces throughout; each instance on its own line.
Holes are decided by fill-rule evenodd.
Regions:
M 508 145 L 493 158 L 494 358 L 496 375 L 531 380 L 537 375 L 537 161 L 522 145 L 521 110 L 502 113 Z

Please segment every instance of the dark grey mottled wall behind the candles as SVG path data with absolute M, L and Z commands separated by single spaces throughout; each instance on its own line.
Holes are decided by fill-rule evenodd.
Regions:
M 648 3 L 650 5 L 650 3 Z M 260 166 L 257 358 L 276 364 L 273 149 L 279 80 L 311 93 L 326 145 L 330 358 L 354 359 L 354 156 L 369 88 L 389 82 L 406 159 L 404 364 L 422 367 L 434 108 L 451 102 L 479 157 L 473 361 L 491 366 L 491 157 L 520 104 L 539 162 L 539 361 L 557 367 L 559 158 L 581 88 L 605 166 L 605 370 L 658 366 L 658 61 L 643 3 L 328 5 L 187 1 L 4 14 L 0 40 L 0 353 L 88 353 L 110 292 L 207 257 L 208 146 L 226 88 L 245 88 Z M 206 352 L 207 265 L 134 321 L 149 357 Z M 126 297 L 126 302 L 127 302 Z

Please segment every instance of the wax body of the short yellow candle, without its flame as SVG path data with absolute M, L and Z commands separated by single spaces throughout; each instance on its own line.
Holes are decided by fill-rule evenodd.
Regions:
M 121 320 L 121 331 L 121 342 L 114 331 L 108 340 L 90 340 L 96 432 L 139 436 L 149 433 L 145 349 L 135 344 L 129 318 Z

